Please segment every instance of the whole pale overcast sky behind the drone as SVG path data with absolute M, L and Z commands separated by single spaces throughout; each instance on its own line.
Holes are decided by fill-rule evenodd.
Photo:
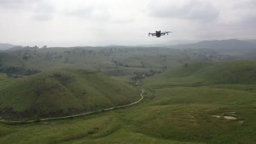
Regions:
M 97 46 L 256 39 L 256 0 L 0 0 L 0 43 Z M 173 31 L 166 37 L 148 32 Z

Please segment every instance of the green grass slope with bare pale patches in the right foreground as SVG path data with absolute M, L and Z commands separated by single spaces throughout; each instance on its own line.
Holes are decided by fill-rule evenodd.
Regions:
M 253 143 L 256 93 L 211 87 L 155 89 L 141 112 L 130 113 L 134 128 L 150 136 L 207 143 Z M 229 112 L 236 112 L 235 115 Z M 235 116 L 236 120 L 212 117 Z M 240 124 L 238 120 L 245 123 Z

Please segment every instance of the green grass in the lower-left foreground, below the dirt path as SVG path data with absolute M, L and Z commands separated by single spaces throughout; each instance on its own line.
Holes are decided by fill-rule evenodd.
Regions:
M 1 124 L 3 130 L 12 130 L 0 133 L 0 143 L 194 143 L 136 133 L 125 125 L 117 112 L 107 114 L 25 125 Z

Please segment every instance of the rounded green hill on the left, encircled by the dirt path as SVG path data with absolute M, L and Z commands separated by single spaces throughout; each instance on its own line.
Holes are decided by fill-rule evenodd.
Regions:
M 130 104 L 139 98 L 137 89 L 96 71 L 59 69 L 1 86 L 0 116 L 20 120 L 68 116 Z

